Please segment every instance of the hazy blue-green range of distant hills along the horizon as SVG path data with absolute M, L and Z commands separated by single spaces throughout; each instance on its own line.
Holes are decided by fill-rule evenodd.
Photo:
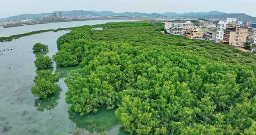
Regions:
M 248 16 L 243 13 L 225 13 L 219 11 L 211 12 L 187 12 L 187 13 L 176 13 L 166 12 L 163 14 L 159 13 L 141 13 L 141 12 L 122 12 L 115 13 L 111 11 L 84 11 L 84 10 L 72 10 L 72 11 L 58 11 L 62 12 L 63 16 L 80 16 L 80 15 L 92 15 L 92 16 L 127 16 L 127 17 L 176 17 L 176 18 L 205 18 L 205 19 L 222 19 L 226 18 L 237 18 L 238 21 L 251 21 L 256 22 L 256 17 Z M 52 13 L 41 13 L 41 14 L 22 14 L 18 16 L 10 16 L 7 18 L 1 18 L 0 21 L 4 20 L 21 20 L 21 19 L 40 19 L 42 17 L 51 16 Z

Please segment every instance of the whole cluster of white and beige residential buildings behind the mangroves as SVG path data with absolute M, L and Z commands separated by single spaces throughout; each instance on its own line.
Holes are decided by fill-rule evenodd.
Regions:
M 193 20 L 195 21 L 195 20 Z M 250 40 L 256 43 L 256 24 L 227 20 L 166 20 L 167 34 L 186 36 L 189 39 L 209 40 L 216 43 L 244 47 Z

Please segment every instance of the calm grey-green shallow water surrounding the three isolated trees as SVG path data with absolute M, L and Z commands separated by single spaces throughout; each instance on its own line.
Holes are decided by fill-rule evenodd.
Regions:
M 58 82 L 60 91 L 56 95 L 46 100 L 32 95 L 30 88 L 36 75 L 33 44 L 47 44 L 48 56 L 52 57 L 57 52 L 56 40 L 67 32 L 46 32 L 0 43 L 0 135 L 100 135 L 99 131 L 127 135 L 113 111 L 100 108 L 97 114 L 83 117 L 68 113 L 64 78 Z M 68 74 L 75 68 L 56 71 Z

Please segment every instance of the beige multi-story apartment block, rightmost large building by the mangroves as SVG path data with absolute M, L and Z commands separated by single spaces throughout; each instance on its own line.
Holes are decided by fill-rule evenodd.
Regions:
M 224 38 L 221 42 L 228 43 L 232 46 L 244 47 L 247 39 L 247 33 L 247 28 L 227 26 L 224 30 Z

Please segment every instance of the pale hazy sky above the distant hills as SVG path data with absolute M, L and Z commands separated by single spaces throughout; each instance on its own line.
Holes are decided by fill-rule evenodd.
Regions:
M 0 18 L 68 10 L 113 12 L 242 12 L 256 16 L 256 0 L 1 0 Z

